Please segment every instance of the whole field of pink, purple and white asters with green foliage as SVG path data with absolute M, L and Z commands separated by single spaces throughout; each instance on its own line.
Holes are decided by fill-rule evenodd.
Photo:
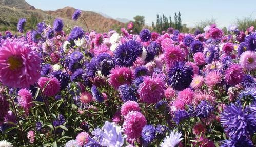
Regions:
M 121 33 L 26 23 L 0 35 L 0 147 L 256 143 L 253 27 L 135 34 L 132 22 Z

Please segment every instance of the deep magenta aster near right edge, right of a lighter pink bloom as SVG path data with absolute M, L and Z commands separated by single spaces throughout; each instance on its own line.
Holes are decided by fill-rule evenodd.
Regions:
M 225 71 L 225 80 L 231 86 L 239 84 L 243 77 L 243 67 L 241 67 L 239 64 L 230 65 L 229 68 Z

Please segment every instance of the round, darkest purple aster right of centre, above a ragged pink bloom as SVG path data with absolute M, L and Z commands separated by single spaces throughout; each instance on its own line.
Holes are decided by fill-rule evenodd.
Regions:
M 168 71 L 168 84 L 174 90 L 188 88 L 193 78 L 193 69 L 182 62 L 174 64 Z

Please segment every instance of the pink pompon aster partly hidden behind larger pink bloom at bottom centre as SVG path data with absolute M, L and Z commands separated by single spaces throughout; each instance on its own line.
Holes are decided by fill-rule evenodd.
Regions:
M 135 101 L 127 101 L 121 107 L 121 114 L 126 116 L 130 111 L 137 111 L 140 112 L 140 106 Z

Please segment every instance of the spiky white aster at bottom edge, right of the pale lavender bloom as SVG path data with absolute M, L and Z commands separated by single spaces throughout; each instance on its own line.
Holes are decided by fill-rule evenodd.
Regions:
M 166 136 L 163 142 L 160 144 L 161 147 L 175 147 L 183 139 L 182 134 L 172 131 L 169 136 Z

